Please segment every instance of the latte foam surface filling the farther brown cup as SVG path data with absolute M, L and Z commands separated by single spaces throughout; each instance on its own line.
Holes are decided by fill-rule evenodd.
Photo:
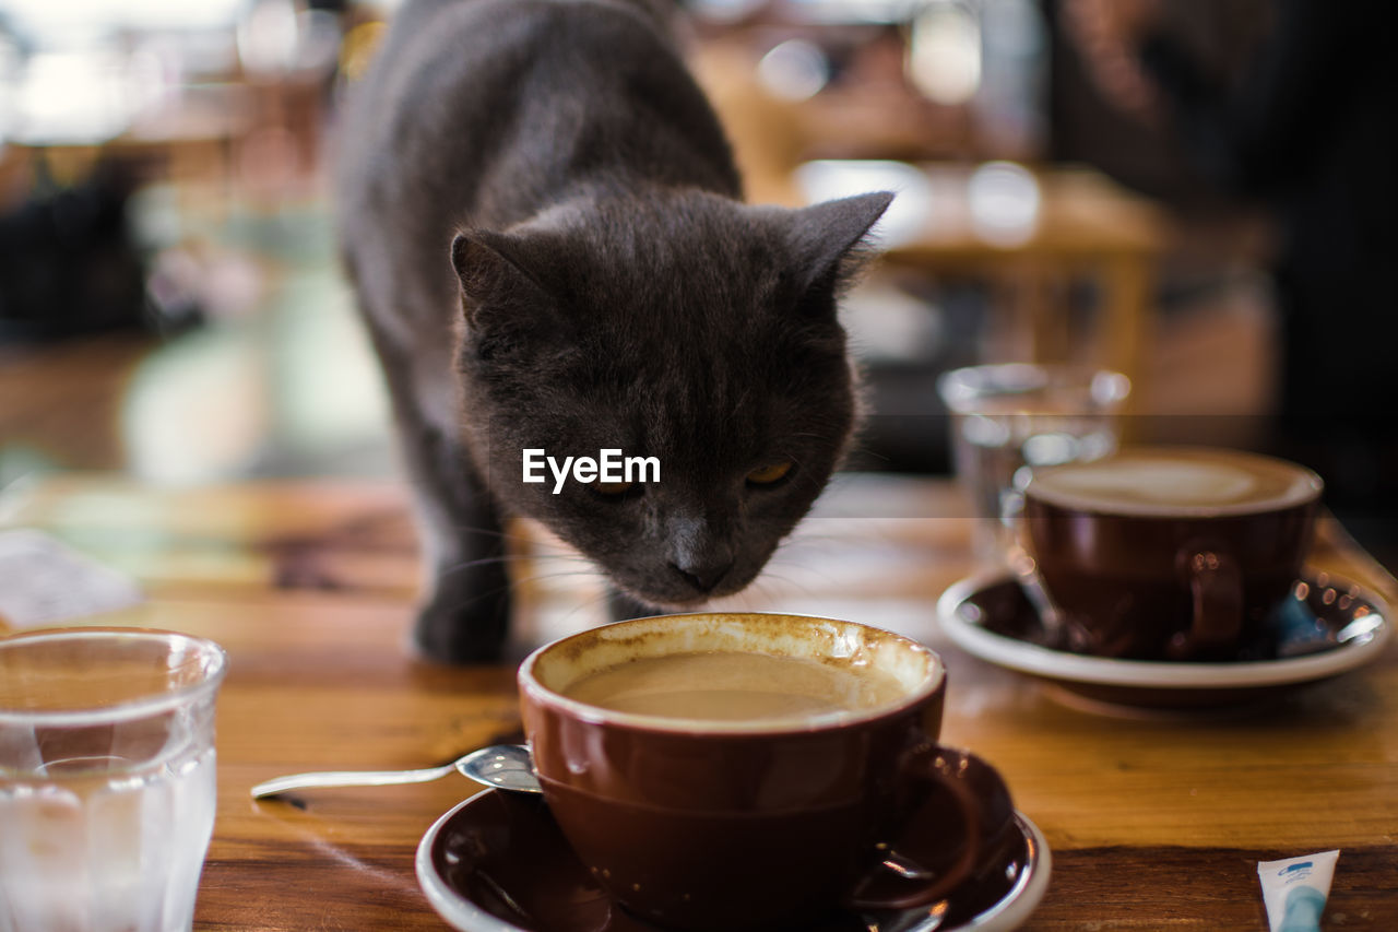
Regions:
M 1321 480 L 1296 463 L 1225 449 L 1139 448 L 1035 472 L 1043 502 L 1124 515 L 1251 514 L 1318 497 Z

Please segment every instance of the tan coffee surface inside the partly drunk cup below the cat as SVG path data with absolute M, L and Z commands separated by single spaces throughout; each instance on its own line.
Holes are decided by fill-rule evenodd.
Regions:
M 765 721 L 858 712 L 905 694 L 882 670 L 819 661 L 700 651 L 644 656 L 587 673 L 562 694 L 632 715 Z

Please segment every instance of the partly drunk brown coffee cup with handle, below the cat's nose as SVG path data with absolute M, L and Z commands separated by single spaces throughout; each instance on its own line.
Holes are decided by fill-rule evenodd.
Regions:
M 719 665 L 685 680 L 702 689 L 679 675 L 651 680 L 679 683 L 654 700 L 668 704 L 664 715 L 601 704 L 629 693 L 576 698 L 598 670 L 664 670 L 635 665 L 696 656 Z M 761 694 L 772 677 L 734 680 L 731 656 L 837 675 L 837 708 L 745 711 L 744 690 Z M 871 693 L 861 677 L 875 673 Z M 565 838 L 618 903 L 664 926 L 786 929 L 837 908 L 930 904 L 1002 863 L 1016 841 L 1000 775 L 937 744 L 941 659 L 888 631 L 781 614 L 639 619 L 535 651 L 519 683 L 534 767 Z M 740 708 L 674 714 L 709 694 L 741 694 Z

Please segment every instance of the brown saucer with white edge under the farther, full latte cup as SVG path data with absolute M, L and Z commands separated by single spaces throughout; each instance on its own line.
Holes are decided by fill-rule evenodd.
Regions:
M 1064 649 L 1008 570 L 956 582 L 937 616 L 946 637 L 983 661 L 1096 702 L 1156 709 L 1267 700 L 1373 661 L 1392 631 L 1383 599 L 1314 568 L 1234 661 L 1121 661 Z

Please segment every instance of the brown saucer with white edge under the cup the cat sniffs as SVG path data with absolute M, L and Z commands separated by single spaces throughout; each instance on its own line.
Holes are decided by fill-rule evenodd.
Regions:
M 1016 821 L 1023 844 L 942 903 L 837 912 L 805 932 L 1018 928 L 1048 887 L 1050 855 L 1039 828 L 1019 813 Z M 417 872 L 432 907 L 460 932 L 660 932 L 612 904 L 537 796 L 487 789 L 457 805 L 422 837 Z

